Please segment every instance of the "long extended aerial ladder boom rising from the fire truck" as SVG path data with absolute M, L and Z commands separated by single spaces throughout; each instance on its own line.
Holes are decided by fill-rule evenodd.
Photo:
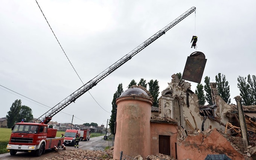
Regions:
M 181 20 L 186 18 L 191 13 L 195 12 L 195 7 L 190 8 L 186 12 L 184 12 L 182 15 L 180 15 L 178 18 L 176 18 L 174 21 L 172 21 L 170 24 L 165 26 L 163 29 L 159 30 L 156 34 L 154 34 L 152 37 L 148 38 L 146 41 L 144 41 L 142 44 L 140 44 L 138 47 L 133 49 L 131 52 L 123 56 L 121 59 L 116 61 L 114 64 L 112 64 L 110 67 L 105 69 L 103 72 L 101 72 L 99 75 L 88 81 L 86 84 L 84 84 L 81 88 L 76 90 L 74 93 L 70 94 L 67 98 L 59 102 L 59 104 L 55 105 L 53 108 L 48 110 L 45 114 L 43 114 L 41 117 L 39 117 L 37 120 L 40 120 L 40 122 L 44 122 L 47 124 L 52 117 L 57 114 L 59 111 L 67 107 L 67 105 L 71 104 L 72 102 L 75 102 L 76 99 L 78 99 L 82 94 L 90 90 L 92 87 L 94 87 L 98 82 L 100 82 L 102 79 L 104 79 L 106 76 L 108 76 L 110 73 L 114 72 L 117 68 L 125 64 L 125 62 L 129 61 L 133 56 L 135 56 L 137 53 L 139 53 L 141 50 L 143 50 L 145 47 L 147 47 L 149 44 L 157 40 L 159 37 L 164 35 L 169 29 L 171 29 L 173 26 L 178 24 Z

